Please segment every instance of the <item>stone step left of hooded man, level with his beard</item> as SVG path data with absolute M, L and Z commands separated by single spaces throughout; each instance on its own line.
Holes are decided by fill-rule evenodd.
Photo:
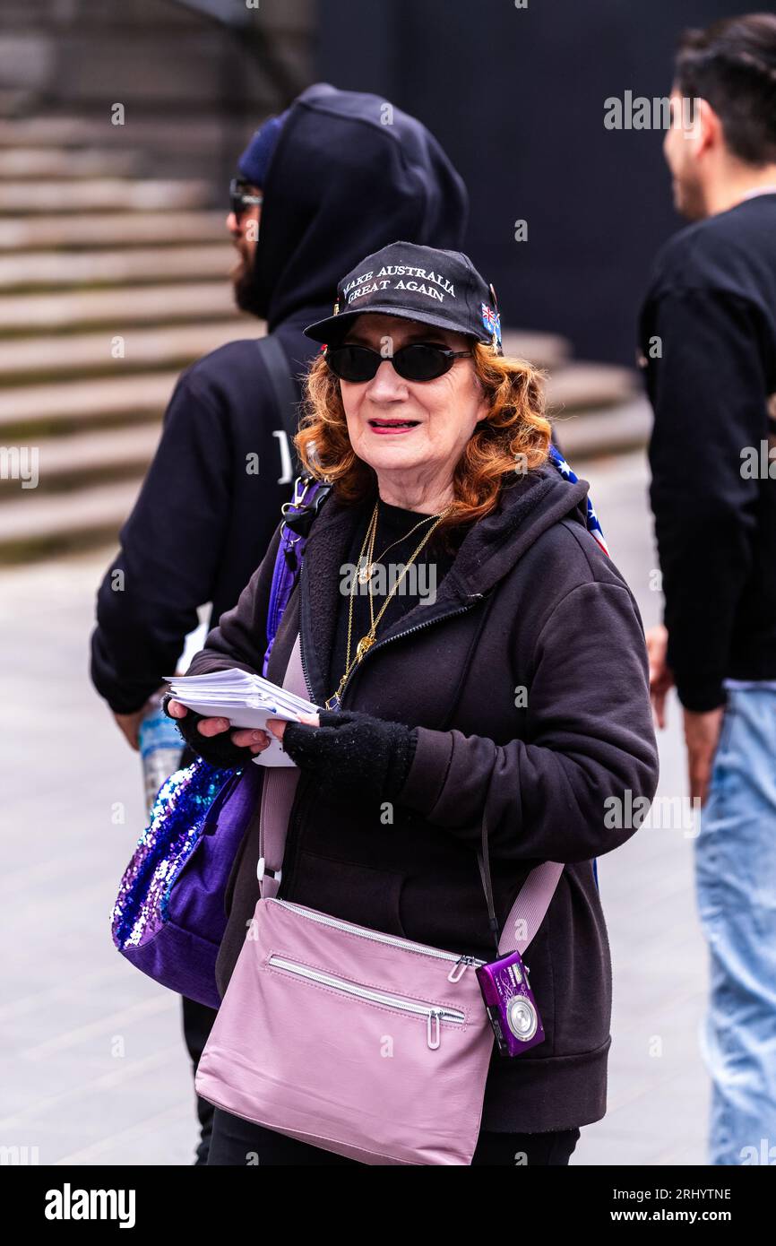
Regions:
M 219 277 L 228 285 L 225 278 L 234 260 L 234 249 L 227 242 L 127 250 L 0 253 L 0 293 L 78 285 L 123 287 L 125 283 L 146 282 L 144 288 L 152 297 L 157 282 L 196 282 L 203 277 Z M 47 294 L 45 298 L 85 298 L 86 293 Z M 113 297 L 121 299 L 125 293 L 123 289 L 116 290 Z M 21 294 L 14 295 L 19 303 L 22 298 Z

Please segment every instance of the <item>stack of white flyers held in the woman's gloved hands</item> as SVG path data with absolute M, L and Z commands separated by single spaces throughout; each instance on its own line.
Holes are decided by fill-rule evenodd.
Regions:
M 289 693 L 285 688 L 230 667 L 204 675 L 167 675 L 166 683 L 176 700 L 206 718 L 228 718 L 232 726 L 253 726 L 267 730 L 268 718 L 298 723 L 303 714 L 316 714 L 318 705 Z M 270 745 L 253 760 L 259 766 L 293 766 L 280 741 L 272 734 Z M 245 756 L 250 756 L 245 749 Z

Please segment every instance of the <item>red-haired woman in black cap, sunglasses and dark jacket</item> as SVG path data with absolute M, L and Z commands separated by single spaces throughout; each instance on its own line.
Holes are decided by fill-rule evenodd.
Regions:
M 658 776 L 638 608 L 588 531 L 587 485 L 547 461 L 538 376 L 502 356 L 492 292 L 467 257 L 386 247 L 306 331 L 328 350 L 296 445 L 333 488 L 268 675 L 283 682 L 299 633 L 310 700 L 326 709 L 268 723 L 300 770 L 278 895 L 492 958 L 476 857 L 490 785 L 499 923 L 533 866 L 564 868 L 529 947 L 547 1037 L 521 1058 L 493 1054 L 473 1164 L 567 1164 L 605 1111 L 612 977 L 593 858 L 635 830 L 610 829 L 612 799 L 651 799 Z M 277 548 L 278 535 L 192 674 L 260 672 Z M 168 711 L 213 761 L 269 743 Z M 222 992 L 257 862 L 254 825 L 230 880 Z M 217 1110 L 211 1163 L 249 1154 L 354 1163 Z

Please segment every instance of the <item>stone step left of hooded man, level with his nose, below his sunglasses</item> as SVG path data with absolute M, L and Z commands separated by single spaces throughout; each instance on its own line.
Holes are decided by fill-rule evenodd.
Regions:
M 225 237 L 222 212 L 111 212 L 72 216 L 0 217 L 0 252 L 47 247 L 121 247 L 204 243 Z

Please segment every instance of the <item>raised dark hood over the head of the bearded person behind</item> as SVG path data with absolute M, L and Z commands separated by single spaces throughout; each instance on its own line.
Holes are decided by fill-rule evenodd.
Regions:
M 308 87 L 263 192 L 254 299 L 270 330 L 300 309 L 333 305 L 344 273 L 397 238 L 463 243 L 461 177 L 420 121 L 376 95 Z

